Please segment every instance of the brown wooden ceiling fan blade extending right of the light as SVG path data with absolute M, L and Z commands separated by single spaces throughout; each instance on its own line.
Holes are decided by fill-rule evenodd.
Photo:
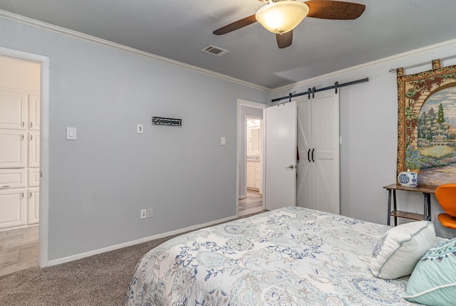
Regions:
M 309 6 L 307 16 L 320 19 L 357 19 L 366 9 L 364 4 L 344 1 L 311 0 L 304 3 Z

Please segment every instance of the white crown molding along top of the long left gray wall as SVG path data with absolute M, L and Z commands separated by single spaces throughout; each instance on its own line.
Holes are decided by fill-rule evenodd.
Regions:
M 16 21 L 18 23 L 25 24 L 26 26 L 33 26 L 34 28 L 41 28 L 41 29 L 46 30 L 46 31 L 51 31 L 51 32 L 54 32 L 54 33 L 70 36 L 72 38 L 81 39 L 83 41 L 89 41 L 91 43 L 96 43 L 98 45 L 105 46 L 105 47 L 108 47 L 108 48 L 113 48 L 113 49 L 116 49 L 116 50 L 119 50 L 119 51 L 124 51 L 124 52 L 127 52 L 127 53 L 133 53 L 135 55 L 144 56 L 146 58 L 152 58 L 154 60 L 160 60 L 161 62 L 165 62 L 165 63 L 171 64 L 171 65 L 176 65 L 176 66 L 179 66 L 181 68 L 187 68 L 187 69 L 190 69 L 190 70 L 195 70 L 195 71 L 197 71 L 199 73 L 204 73 L 204 74 L 211 75 L 211 76 L 214 76 L 214 77 L 217 77 L 217 78 L 222 78 L 224 80 L 229 80 L 229 81 L 232 81 L 234 83 L 238 83 L 238 84 L 241 84 L 241 85 L 249 86 L 251 88 L 256 88 L 256 89 L 259 89 L 259 90 L 268 90 L 269 92 L 271 91 L 271 88 L 266 88 L 264 86 L 257 85 L 257 84 L 254 84 L 254 83 L 249 83 L 249 82 L 246 82 L 244 80 L 240 80 L 238 78 L 232 78 L 229 75 L 224 75 L 222 73 L 217 73 L 217 72 L 212 71 L 212 70 L 199 68 L 199 67 L 194 66 L 194 65 L 181 63 L 181 62 L 179 62 L 177 60 L 171 60 L 170 58 L 164 58 L 162 56 L 157 56 L 157 55 L 152 54 L 152 53 L 148 53 L 148 52 L 145 52 L 145 51 L 140 51 L 140 50 L 135 49 L 135 48 L 130 48 L 128 46 L 120 45 L 119 43 L 113 43 L 112 41 L 106 41 L 106 40 L 98 38 L 98 37 L 90 36 L 90 35 L 87 35 L 87 34 L 84 34 L 84 33 L 80 33 L 80 32 L 77 32 L 77 31 L 73 31 L 73 30 L 69 30 L 68 28 L 62 28 L 60 26 L 54 26 L 53 24 L 45 23 L 45 22 L 38 21 L 38 20 L 35 20 L 35 19 L 31 19 L 31 18 L 28 18 L 28 17 L 25 17 L 25 16 L 21 16 L 21 15 L 18 15 L 18 14 L 13 14 L 13 13 L 11 13 L 9 11 L 0 10 L 0 17 L 3 17 L 4 19 L 8 19 L 8 20 L 11 20 L 11 21 Z

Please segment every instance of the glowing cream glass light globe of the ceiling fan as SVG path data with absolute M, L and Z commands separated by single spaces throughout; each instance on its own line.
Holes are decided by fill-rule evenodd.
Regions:
M 278 1 L 263 6 L 255 14 L 255 18 L 266 30 L 281 34 L 299 25 L 309 14 L 309 6 L 299 1 Z

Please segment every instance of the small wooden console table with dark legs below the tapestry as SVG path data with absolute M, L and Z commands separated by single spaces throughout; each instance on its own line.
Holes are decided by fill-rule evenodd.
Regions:
M 384 186 L 384 189 L 388 190 L 388 226 L 390 225 L 391 216 L 394 217 L 394 226 L 398 225 L 398 218 L 408 218 L 412 220 L 427 220 L 430 221 L 430 194 L 435 194 L 435 187 L 430 186 L 417 186 L 417 187 L 405 187 L 400 184 L 390 184 Z M 411 192 L 422 192 L 425 198 L 423 214 L 410 213 L 409 211 L 398 211 L 396 201 L 396 190 L 411 191 Z M 391 192 L 393 191 L 393 192 Z M 393 210 L 391 210 L 391 193 L 393 193 Z

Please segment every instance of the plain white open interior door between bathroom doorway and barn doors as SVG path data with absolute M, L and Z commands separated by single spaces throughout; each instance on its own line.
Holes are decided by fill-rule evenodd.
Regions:
M 296 206 L 296 101 L 266 108 L 266 209 Z

